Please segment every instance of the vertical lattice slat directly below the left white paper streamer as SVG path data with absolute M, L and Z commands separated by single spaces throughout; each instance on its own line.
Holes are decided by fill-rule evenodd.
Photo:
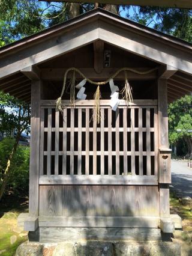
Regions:
M 77 174 L 82 174 L 82 109 L 78 109 L 78 165 Z

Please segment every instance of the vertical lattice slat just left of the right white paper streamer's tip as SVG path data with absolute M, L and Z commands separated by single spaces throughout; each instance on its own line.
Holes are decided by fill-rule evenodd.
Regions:
M 112 175 L 112 110 L 108 109 L 108 175 Z

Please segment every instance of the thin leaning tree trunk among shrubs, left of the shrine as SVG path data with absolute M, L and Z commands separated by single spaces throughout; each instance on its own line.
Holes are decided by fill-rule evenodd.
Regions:
M 17 133 L 16 141 L 14 142 L 13 149 L 10 153 L 10 156 L 8 157 L 8 160 L 7 160 L 7 166 L 6 166 L 6 169 L 4 172 L 4 178 L 2 180 L 2 185 L 1 185 L 1 189 L 0 189 L 0 201 L 1 201 L 2 196 L 4 195 L 5 188 L 7 186 L 8 175 L 10 174 L 11 160 L 13 159 L 14 153 L 16 153 L 17 145 L 19 143 L 20 134 L 21 134 L 21 132 Z

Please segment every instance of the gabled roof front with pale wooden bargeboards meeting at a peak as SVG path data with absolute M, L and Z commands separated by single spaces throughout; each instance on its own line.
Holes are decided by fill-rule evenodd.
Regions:
M 191 43 L 97 8 L 1 47 L 2 84 L 8 82 L 9 76 L 18 76 L 19 79 L 20 70 L 36 66 L 96 40 L 103 40 L 158 64 L 171 66 L 180 73 L 188 74 L 188 80 L 191 78 Z

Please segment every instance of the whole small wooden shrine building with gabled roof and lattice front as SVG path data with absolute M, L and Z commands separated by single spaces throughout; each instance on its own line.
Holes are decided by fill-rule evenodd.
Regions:
M 56 111 L 72 67 L 95 82 L 117 73 L 116 111 L 109 83 L 100 86 L 97 123 L 97 86 L 88 79 L 86 99 L 71 106 L 73 72 L 63 115 Z M 124 69 L 128 106 L 121 98 Z M 191 72 L 192 44 L 100 8 L 1 47 L 0 90 L 31 103 L 29 240 L 173 232 L 167 103 L 191 93 Z M 76 72 L 76 84 L 82 79 Z

